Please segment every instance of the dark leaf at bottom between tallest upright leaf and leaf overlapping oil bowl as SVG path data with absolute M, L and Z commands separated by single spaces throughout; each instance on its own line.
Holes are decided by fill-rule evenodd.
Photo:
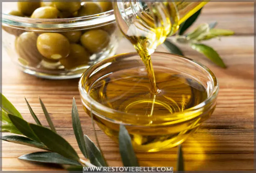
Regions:
M 88 157 L 90 159 L 90 162 L 98 167 L 104 166 L 106 167 L 107 165 L 105 164 L 105 160 L 97 146 L 92 142 L 92 140 L 87 136 L 84 135 L 84 140 L 86 143 L 87 151 L 88 151 Z

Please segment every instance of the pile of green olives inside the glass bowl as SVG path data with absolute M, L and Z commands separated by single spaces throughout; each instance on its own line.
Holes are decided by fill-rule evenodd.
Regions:
M 18 10 L 10 15 L 19 17 L 59 19 L 94 15 L 112 9 L 112 4 L 81 2 L 18 2 Z M 42 60 L 63 65 L 66 69 L 86 65 L 90 56 L 104 51 L 110 43 L 110 35 L 115 25 L 105 25 L 92 30 L 65 32 L 26 32 L 3 26 L 16 36 L 15 49 L 19 60 L 26 65 L 37 67 Z

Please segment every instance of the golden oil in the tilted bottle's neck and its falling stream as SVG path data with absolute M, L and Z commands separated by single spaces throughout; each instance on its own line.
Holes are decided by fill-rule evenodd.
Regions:
M 147 116 L 153 115 L 156 97 L 162 90 L 156 83 L 151 53 L 154 52 L 158 45 L 164 42 L 168 35 L 175 33 L 182 22 L 202 8 L 205 3 L 176 2 L 175 5 L 174 3 L 162 3 L 162 7 L 159 4 L 151 5 L 151 9 L 148 7 L 139 14 L 141 22 L 139 22 L 139 25 L 135 24 L 138 26 L 135 30 L 132 28 L 134 35 L 131 32 L 129 35 L 125 35 L 133 44 L 146 67 L 150 86 L 150 96 L 146 101 L 148 102 Z M 168 14 L 163 16 L 160 13 Z M 169 17 L 166 18 L 166 16 Z M 147 34 L 144 32 L 145 30 Z M 170 109 L 169 112 L 172 112 L 172 110 Z

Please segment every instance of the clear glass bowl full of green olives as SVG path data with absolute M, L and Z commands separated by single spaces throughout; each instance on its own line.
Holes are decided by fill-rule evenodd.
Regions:
M 2 5 L 3 48 L 23 72 L 41 78 L 79 78 L 114 55 L 122 37 L 110 2 Z

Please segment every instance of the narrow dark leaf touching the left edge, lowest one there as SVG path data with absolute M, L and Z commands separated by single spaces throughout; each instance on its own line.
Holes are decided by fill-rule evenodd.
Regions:
M 43 150 L 49 150 L 43 143 L 39 143 L 36 140 L 32 140 L 24 136 L 7 135 L 7 136 L 0 137 L 0 139 L 11 142 L 11 143 L 18 143 L 21 145 L 28 145 L 35 148 L 40 148 Z

